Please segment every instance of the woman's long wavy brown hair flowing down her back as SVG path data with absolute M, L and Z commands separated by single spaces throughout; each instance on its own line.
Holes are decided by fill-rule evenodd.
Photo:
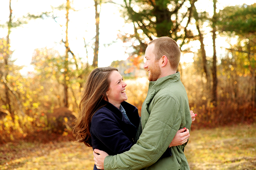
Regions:
M 110 86 L 110 74 L 118 71 L 114 67 L 95 68 L 89 74 L 81 94 L 79 113 L 76 119 L 73 133 L 77 136 L 78 142 L 84 142 L 86 146 L 92 147 L 90 123 L 93 114 L 102 108 L 101 100 L 108 100 L 106 92 Z

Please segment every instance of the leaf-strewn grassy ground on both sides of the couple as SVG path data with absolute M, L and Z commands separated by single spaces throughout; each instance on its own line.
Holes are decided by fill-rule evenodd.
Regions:
M 191 131 L 185 147 L 191 170 L 256 170 L 256 124 Z M 92 148 L 74 141 L 0 144 L 0 170 L 93 169 Z

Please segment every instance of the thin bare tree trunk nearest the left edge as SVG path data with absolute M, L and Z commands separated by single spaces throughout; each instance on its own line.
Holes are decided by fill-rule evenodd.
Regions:
M 8 64 L 8 59 L 9 59 L 9 46 L 10 46 L 10 33 L 11 33 L 11 27 L 12 27 L 12 14 L 13 14 L 13 10 L 11 9 L 11 0 L 9 1 L 9 9 L 10 9 L 10 15 L 9 15 L 9 22 L 8 22 L 8 34 L 7 34 L 7 53 L 5 56 L 5 77 L 7 77 L 8 72 L 9 72 L 9 64 Z M 11 117 L 14 120 L 14 113 L 12 112 L 12 108 L 11 108 L 11 101 L 10 101 L 10 96 L 9 96 L 9 88 L 7 87 L 7 85 L 5 84 L 5 98 L 6 98 L 6 107 L 8 108 Z

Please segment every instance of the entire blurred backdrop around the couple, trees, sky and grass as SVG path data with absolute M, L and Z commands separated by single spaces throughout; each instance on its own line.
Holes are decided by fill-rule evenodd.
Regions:
M 92 169 L 73 120 L 88 74 L 115 66 L 139 114 L 144 52 L 172 37 L 197 114 L 191 170 L 256 169 L 254 0 L 0 0 L 0 170 Z

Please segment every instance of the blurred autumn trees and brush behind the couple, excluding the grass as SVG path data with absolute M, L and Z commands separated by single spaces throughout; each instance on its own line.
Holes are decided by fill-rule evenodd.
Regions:
M 143 72 L 147 43 L 162 36 L 172 37 L 181 49 L 178 71 L 190 108 L 198 114 L 192 129 L 255 122 L 256 3 L 231 6 L 216 0 L 63 0 L 59 4 L 55 1 L 47 11 L 17 17 L 15 9 L 20 2 L 9 0 L 8 12 L 1 13 L 6 20 L 0 22 L 1 35 L 5 33 L 0 39 L 0 143 L 19 139 L 46 142 L 59 137 L 73 140 L 72 121 L 78 113 L 82 87 L 90 71 L 104 65 L 98 64 L 101 60 L 121 70 L 128 84 L 127 101 L 140 110 L 148 81 L 146 72 L 144 77 L 136 72 Z M 113 42 L 104 41 L 108 32 L 101 35 L 106 27 L 113 29 L 112 24 L 100 24 L 108 24 L 101 20 L 104 5 L 118 9 L 116 13 L 123 18 L 123 27 L 115 31 Z M 89 16 L 81 15 L 81 11 L 90 11 L 93 26 L 84 22 Z M 33 49 L 32 54 L 16 53 L 12 33 L 44 20 L 55 23 L 58 29 L 52 29 L 59 32 L 60 41 Z M 83 22 L 85 25 L 75 27 Z M 84 33 L 77 34 L 81 30 Z M 102 50 L 100 54 L 100 49 L 113 44 L 109 53 Z M 124 49 L 123 55 L 113 59 L 119 49 Z M 14 54 L 32 57 L 30 65 L 20 66 L 18 62 L 27 58 L 20 60 Z M 30 70 L 24 72 L 28 67 Z

